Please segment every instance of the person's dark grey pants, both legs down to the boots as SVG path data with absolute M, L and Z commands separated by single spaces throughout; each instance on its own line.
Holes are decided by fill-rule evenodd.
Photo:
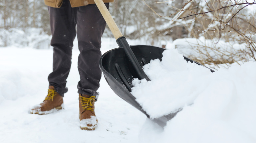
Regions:
M 105 4 L 108 8 L 109 3 Z M 48 77 L 49 85 L 64 96 L 68 91 L 66 79 L 71 68 L 72 47 L 77 34 L 78 71 L 80 81 L 78 93 L 97 95 L 101 71 L 101 36 L 106 22 L 95 4 L 71 8 L 69 0 L 64 0 L 61 8 L 48 7 L 52 31 L 53 72 Z M 77 25 L 77 33 L 75 26 Z

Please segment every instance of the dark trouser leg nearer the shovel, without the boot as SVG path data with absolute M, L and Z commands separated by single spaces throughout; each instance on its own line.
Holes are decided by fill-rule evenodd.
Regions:
M 109 3 L 105 4 L 107 8 Z M 101 70 L 101 36 L 106 27 L 100 11 L 95 4 L 79 7 L 77 10 L 77 39 L 80 55 L 78 56 L 78 71 L 80 81 L 78 93 L 96 96 L 99 88 Z

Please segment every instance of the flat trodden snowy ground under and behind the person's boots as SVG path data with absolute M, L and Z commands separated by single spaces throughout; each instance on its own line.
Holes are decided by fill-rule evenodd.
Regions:
M 114 39 L 114 38 L 113 38 Z M 75 43 L 72 68 L 67 79 L 69 91 L 65 109 L 48 115 L 29 114 L 42 102 L 48 91 L 48 74 L 52 71 L 51 49 L 31 47 L 0 48 L 0 142 L 3 143 L 130 143 L 138 142 L 146 116 L 119 98 L 102 77 L 95 112 L 96 131 L 79 127 L 77 56 Z M 104 39 L 102 53 L 116 48 L 115 39 Z

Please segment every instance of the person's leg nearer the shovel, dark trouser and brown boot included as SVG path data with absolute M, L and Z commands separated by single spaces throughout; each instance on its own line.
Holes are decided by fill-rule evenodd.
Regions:
M 108 8 L 109 3 L 105 4 Z M 99 58 L 101 56 L 101 36 L 106 22 L 95 4 L 79 7 L 77 10 L 77 40 L 80 54 L 78 56 L 78 71 L 80 81 L 79 93 L 80 128 L 95 130 L 97 118 L 94 103 L 97 99 L 97 89 L 101 78 Z

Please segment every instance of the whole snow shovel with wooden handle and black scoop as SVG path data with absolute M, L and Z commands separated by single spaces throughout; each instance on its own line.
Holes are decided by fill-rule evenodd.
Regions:
M 103 1 L 94 1 L 119 46 L 119 48 L 112 49 L 101 56 L 99 60 L 100 70 L 103 72 L 108 85 L 120 98 L 144 113 L 149 119 L 152 119 L 150 115 L 148 115 L 146 111 L 142 109 L 142 107 L 136 101 L 136 98 L 131 94 L 133 87 L 132 80 L 138 78 L 140 80 L 146 79 L 149 81 L 150 79 L 143 71 L 142 66 L 148 64 L 152 59 L 161 60 L 162 53 L 165 49 L 149 45 L 130 46 L 126 41 L 126 38 L 120 32 L 117 24 L 115 23 Z M 184 59 L 190 62 L 195 62 L 185 56 Z M 199 63 L 197 64 L 201 65 Z M 211 71 L 214 72 L 213 70 Z M 181 111 L 181 109 L 152 120 L 161 127 L 164 127 L 166 122 L 175 117 L 179 111 Z

